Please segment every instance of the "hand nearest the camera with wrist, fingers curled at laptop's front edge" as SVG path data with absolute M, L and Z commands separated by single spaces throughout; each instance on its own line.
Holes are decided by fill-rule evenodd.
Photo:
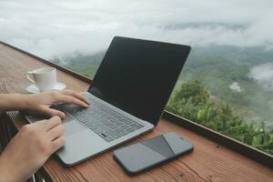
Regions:
M 65 145 L 63 134 L 58 116 L 23 126 L 0 157 L 0 182 L 25 181 Z

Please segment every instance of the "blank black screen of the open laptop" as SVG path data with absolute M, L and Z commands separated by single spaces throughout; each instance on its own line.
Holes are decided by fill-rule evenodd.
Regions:
M 190 47 L 116 36 L 88 91 L 157 125 Z

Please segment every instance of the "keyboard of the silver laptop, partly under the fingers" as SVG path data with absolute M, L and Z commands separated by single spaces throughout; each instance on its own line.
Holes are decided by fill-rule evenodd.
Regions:
M 143 125 L 131 118 L 117 113 L 115 110 L 104 106 L 88 96 L 86 97 L 91 103 L 90 107 L 84 109 L 75 107 L 71 110 L 66 110 L 66 112 L 74 116 L 107 142 L 143 127 Z

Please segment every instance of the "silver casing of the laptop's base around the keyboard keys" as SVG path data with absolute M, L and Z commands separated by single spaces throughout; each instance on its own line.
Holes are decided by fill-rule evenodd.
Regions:
M 120 114 L 121 116 L 125 116 L 128 120 L 134 121 L 135 123 L 141 125 L 142 127 L 134 130 L 131 133 L 127 133 L 126 135 L 119 136 L 114 140 L 107 141 L 104 139 L 103 134 L 97 134 L 96 131 L 91 130 L 86 126 L 84 122 L 81 122 L 76 118 L 76 115 L 72 115 L 69 113 L 69 108 L 67 107 L 76 107 L 73 105 L 66 105 L 66 106 L 56 106 L 59 107 L 59 110 L 66 112 L 66 118 L 63 120 L 63 124 L 65 126 L 65 138 L 66 138 L 66 146 L 59 149 L 56 152 L 56 155 L 66 164 L 66 166 L 74 166 L 77 163 L 86 160 L 89 157 L 94 157 L 111 147 L 115 147 L 118 144 L 121 144 L 131 138 L 139 136 L 141 134 L 146 133 L 147 131 L 153 129 L 154 125 L 150 124 L 147 121 L 137 118 L 136 116 L 132 116 L 121 109 L 112 106 L 105 101 L 93 96 L 88 92 L 82 93 L 91 105 L 83 110 L 92 110 L 94 106 L 94 102 L 97 102 L 101 105 L 106 106 L 106 108 L 111 109 L 113 112 Z M 64 108 L 66 107 L 66 108 Z M 76 107 L 77 109 L 78 107 Z M 66 111 L 67 109 L 67 111 Z M 80 115 L 80 112 L 77 112 Z M 43 116 L 30 116 L 25 114 L 26 119 L 33 123 L 35 121 L 45 119 Z M 89 119 L 92 119 L 92 114 L 90 114 Z M 101 116 L 102 118 L 104 116 Z M 104 130 L 106 131 L 106 129 Z

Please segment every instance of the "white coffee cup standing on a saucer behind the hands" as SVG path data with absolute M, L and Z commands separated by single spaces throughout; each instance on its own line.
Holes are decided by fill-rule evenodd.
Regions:
M 26 78 L 31 81 L 41 92 L 52 90 L 56 86 L 56 68 L 42 67 L 26 73 Z

